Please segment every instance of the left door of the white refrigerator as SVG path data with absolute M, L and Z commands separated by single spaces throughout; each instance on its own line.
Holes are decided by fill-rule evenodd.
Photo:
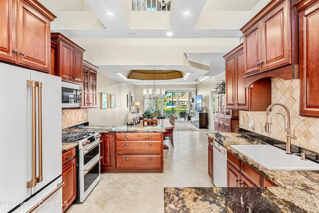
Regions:
M 30 71 L 0 63 L 0 212 L 8 212 L 31 195 L 30 180 L 29 93 L 26 79 Z

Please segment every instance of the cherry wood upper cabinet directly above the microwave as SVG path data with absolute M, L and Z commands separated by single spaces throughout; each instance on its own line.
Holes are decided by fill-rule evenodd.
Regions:
M 51 40 L 57 45 L 54 59 L 54 74 L 63 81 L 83 84 L 84 49 L 61 33 L 52 32 Z

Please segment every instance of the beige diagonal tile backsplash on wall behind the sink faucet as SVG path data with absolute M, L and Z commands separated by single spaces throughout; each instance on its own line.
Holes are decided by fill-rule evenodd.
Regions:
M 303 147 L 315 152 L 319 152 L 319 119 L 308 118 L 299 115 L 300 101 L 300 80 L 283 80 L 281 78 L 272 79 L 272 103 L 285 104 L 290 112 L 291 131 L 295 131 L 296 140 L 292 140 L 292 144 Z M 244 125 L 240 128 L 286 142 L 287 133 L 284 132 L 287 121 L 280 114 L 286 116 L 285 110 L 280 106 L 272 107 L 269 113 L 269 122 L 271 119 L 271 133 L 265 132 L 266 113 L 265 112 L 249 112 L 240 111 L 239 118 L 244 119 Z M 255 128 L 249 127 L 249 122 L 254 120 Z M 286 124 L 285 124 L 286 123 Z

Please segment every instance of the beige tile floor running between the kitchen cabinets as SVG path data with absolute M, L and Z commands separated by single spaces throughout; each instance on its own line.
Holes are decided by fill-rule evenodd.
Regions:
M 103 173 L 85 202 L 67 213 L 163 213 L 164 187 L 212 187 L 207 132 L 174 131 L 174 149 L 164 150 L 163 173 Z

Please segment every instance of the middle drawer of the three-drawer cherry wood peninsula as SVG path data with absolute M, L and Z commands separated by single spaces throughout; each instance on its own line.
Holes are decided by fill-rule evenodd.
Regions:
M 161 154 L 161 141 L 116 141 L 116 154 Z

